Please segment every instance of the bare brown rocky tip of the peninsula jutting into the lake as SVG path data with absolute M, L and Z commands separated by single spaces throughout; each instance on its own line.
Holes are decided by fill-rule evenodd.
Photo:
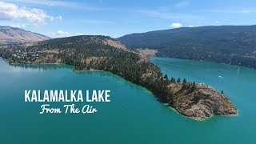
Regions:
M 191 85 L 191 83 L 190 83 Z M 182 84 L 172 84 L 173 106 L 180 114 L 203 120 L 212 115 L 233 115 L 237 109 L 224 94 L 210 86 L 196 83 L 194 90 L 191 86 L 182 88 Z

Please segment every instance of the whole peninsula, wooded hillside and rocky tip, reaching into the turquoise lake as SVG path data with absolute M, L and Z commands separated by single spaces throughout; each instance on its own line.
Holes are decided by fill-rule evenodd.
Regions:
M 42 42 L 1 46 L 0 57 L 10 63 L 63 63 L 79 70 L 104 70 L 150 90 L 159 102 L 197 120 L 217 115 L 237 114 L 222 92 L 186 78 L 169 78 L 147 57 L 113 38 L 97 35 L 55 38 Z

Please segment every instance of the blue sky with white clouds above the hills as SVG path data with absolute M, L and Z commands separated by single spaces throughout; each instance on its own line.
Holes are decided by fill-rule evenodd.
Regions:
M 0 0 L 0 26 L 50 38 L 179 27 L 255 25 L 255 0 Z

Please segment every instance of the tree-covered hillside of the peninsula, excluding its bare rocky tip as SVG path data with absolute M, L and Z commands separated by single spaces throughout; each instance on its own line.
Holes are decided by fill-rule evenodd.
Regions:
M 10 63 L 66 63 L 75 70 L 106 70 L 130 82 L 146 86 L 164 102 L 170 97 L 170 80 L 147 58 L 130 50 L 110 46 L 112 38 L 105 36 L 76 36 L 56 38 L 32 46 L 10 46 L 0 49 L 0 56 Z M 117 43 L 118 44 L 118 43 Z M 170 100 L 170 99 L 169 99 Z

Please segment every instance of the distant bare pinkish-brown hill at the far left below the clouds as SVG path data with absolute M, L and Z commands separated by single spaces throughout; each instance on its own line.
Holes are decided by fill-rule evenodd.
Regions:
M 39 42 L 50 39 L 42 34 L 22 30 L 10 26 L 0 26 L 0 44 L 18 44 L 24 42 Z

